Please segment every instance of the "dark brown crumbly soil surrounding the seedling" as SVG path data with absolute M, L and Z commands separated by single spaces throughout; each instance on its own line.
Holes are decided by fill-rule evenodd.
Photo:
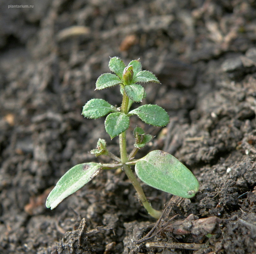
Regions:
M 9 2 L 33 8 L 0 5 L 0 253 L 256 253 L 255 1 Z M 156 136 L 140 156 L 169 152 L 200 183 L 190 200 L 143 184 L 157 223 L 110 170 L 45 206 L 69 168 L 108 161 L 88 153 L 99 137 L 118 153 L 104 119 L 81 116 L 91 98 L 120 105 L 117 87 L 94 90 L 114 56 L 156 74 L 143 103 L 170 116 L 132 117 L 128 149 L 138 124 Z

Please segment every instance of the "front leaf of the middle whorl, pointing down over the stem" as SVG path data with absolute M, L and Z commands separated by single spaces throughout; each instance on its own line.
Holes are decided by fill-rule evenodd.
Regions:
M 115 112 L 106 117 L 105 129 L 111 139 L 127 130 L 129 125 L 130 119 L 124 113 Z

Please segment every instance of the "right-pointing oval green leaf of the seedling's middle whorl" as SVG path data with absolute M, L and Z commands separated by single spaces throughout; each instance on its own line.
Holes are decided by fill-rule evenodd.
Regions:
M 146 104 L 128 113 L 128 116 L 137 115 L 146 124 L 165 126 L 169 123 L 167 112 L 158 105 Z

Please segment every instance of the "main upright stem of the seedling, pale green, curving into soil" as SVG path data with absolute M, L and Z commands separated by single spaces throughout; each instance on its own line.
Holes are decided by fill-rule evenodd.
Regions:
M 124 114 L 128 113 L 128 103 L 129 103 L 129 98 L 126 96 L 125 92 L 123 95 L 123 100 L 122 100 L 122 106 L 121 106 L 121 112 Z M 127 156 L 127 149 L 126 149 L 126 131 L 121 133 L 119 135 L 119 146 L 120 146 L 120 157 L 121 157 L 121 163 L 123 163 L 123 169 L 127 177 L 130 179 L 132 182 L 132 185 L 134 186 L 135 190 L 138 193 L 139 199 L 142 202 L 143 206 L 145 209 L 148 211 L 148 213 L 158 219 L 161 216 L 161 211 L 155 210 L 151 204 L 147 201 L 147 198 L 139 184 L 139 181 L 137 178 L 134 176 L 131 166 L 130 165 L 125 165 L 128 161 L 128 156 Z M 136 151 L 137 152 L 137 151 Z M 136 153 L 135 153 L 136 154 Z

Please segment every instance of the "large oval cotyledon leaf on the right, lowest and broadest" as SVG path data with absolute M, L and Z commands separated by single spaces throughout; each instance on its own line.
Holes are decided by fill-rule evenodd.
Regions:
M 192 172 L 174 156 L 161 150 L 154 150 L 139 160 L 135 172 L 149 186 L 179 197 L 194 197 L 199 189 Z

